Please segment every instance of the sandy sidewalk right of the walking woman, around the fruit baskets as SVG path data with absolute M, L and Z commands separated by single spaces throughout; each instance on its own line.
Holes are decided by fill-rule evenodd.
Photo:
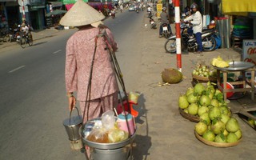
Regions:
M 144 13 L 145 14 L 145 13 Z M 146 25 L 147 24 L 147 25 Z M 158 22 L 157 22 L 158 24 Z M 135 138 L 135 159 L 254 159 L 256 153 L 256 132 L 237 114 L 242 128 L 243 138 L 238 146 L 217 148 L 207 146 L 194 136 L 194 122 L 190 122 L 179 114 L 178 97 L 191 87 L 192 70 L 197 62 L 210 64 L 212 58 L 234 58 L 240 61 L 238 52 L 232 49 L 218 49 L 203 52 L 202 56 L 193 53 L 182 53 L 182 74 L 184 79 L 178 84 L 158 86 L 162 82 L 161 72 L 165 68 L 177 68 L 176 54 L 167 54 L 164 49 L 166 38 L 158 38 L 158 29 L 150 29 L 149 18 L 145 14 L 142 24 L 142 62 L 141 77 L 136 80 L 136 90 L 142 92 L 138 100 L 139 111 L 136 118 L 138 132 Z M 174 25 L 172 25 L 175 33 Z M 250 98 L 241 98 L 250 102 Z M 230 100 L 231 110 L 242 107 L 240 100 Z M 255 102 L 254 102 L 255 104 Z

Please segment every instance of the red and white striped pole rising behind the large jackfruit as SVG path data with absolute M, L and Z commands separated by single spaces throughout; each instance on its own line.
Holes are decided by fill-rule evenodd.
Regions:
M 181 21 L 180 21 L 180 9 L 179 0 L 174 0 L 175 7 L 175 29 L 176 29 L 176 57 L 177 57 L 177 69 L 182 72 L 182 40 L 181 40 Z

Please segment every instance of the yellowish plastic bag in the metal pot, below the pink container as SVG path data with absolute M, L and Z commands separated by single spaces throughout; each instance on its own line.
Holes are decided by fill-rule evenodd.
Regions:
M 114 128 L 109 130 L 108 139 L 110 143 L 113 142 L 122 142 L 128 138 L 128 133 L 124 130 Z

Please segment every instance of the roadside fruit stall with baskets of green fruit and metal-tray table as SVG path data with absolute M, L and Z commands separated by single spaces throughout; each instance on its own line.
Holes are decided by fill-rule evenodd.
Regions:
M 250 82 L 245 76 L 248 71 Z M 238 80 L 229 82 L 229 72 L 241 72 L 242 75 Z M 220 57 L 213 58 L 211 66 L 195 66 L 192 72 L 193 86 L 178 98 L 179 113 L 190 122 L 196 122 L 195 138 L 208 146 L 238 145 L 242 141 L 242 130 L 234 114 L 242 114 L 243 120 L 255 129 L 255 107 L 246 110 L 241 106 L 238 111 L 233 111 L 230 105 L 230 100 L 235 99 L 232 98 L 234 92 L 249 92 L 254 101 L 254 72 L 253 63 L 224 61 Z

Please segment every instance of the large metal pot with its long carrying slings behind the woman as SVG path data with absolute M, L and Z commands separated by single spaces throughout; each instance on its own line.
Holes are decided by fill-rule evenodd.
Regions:
M 90 91 L 91 91 L 91 82 L 92 82 L 92 73 L 93 73 L 93 68 L 94 68 L 94 58 L 95 58 L 95 54 L 96 54 L 96 50 L 97 50 L 97 41 L 98 38 L 104 38 L 105 42 L 106 42 L 106 50 L 108 50 L 109 54 L 110 54 L 110 62 L 112 62 L 113 68 L 114 68 L 114 72 L 116 74 L 116 77 L 118 78 L 118 81 L 120 82 L 120 86 L 122 87 L 123 92 L 125 93 L 125 97 L 121 98 L 121 107 L 122 110 L 124 111 L 124 104 L 122 102 L 126 101 L 127 102 L 127 106 L 130 106 L 130 103 L 128 101 L 128 96 L 126 94 L 126 88 L 124 86 L 124 82 L 122 79 L 122 73 L 120 70 L 120 67 L 118 65 L 117 62 L 117 58 L 115 57 L 114 54 L 114 50 L 112 49 L 112 47 L 110 46 L 110 40 L 106 34 L 106 30 L 105 28 L 102 28 L 101 26 L 98 26 L 99 28 L 99 34 L 96 36 L 95 38 L 95 47 L 94 47 L 94 55 L 92 58 L 92 62 L 91 62 L 91 68 L 90 68 L 90 77 L 89 77 L 89 82 L 88 82 L 88 86 L 87 86 L 87 93 L 86 93 L 86 107 L 89 108 L 90 107 Z M 118 92 L 118 94 L 120 94 L 120 90 Z M 86 111 L 84 111 L 83 113 L 83 121 L 85 122 L 85 114 Z M 86 123 L 91 122 L 93 119 L 88 119 L 88 113 L 86 116 Z M 126 121 L 126 125 L 129 126 L 129 122 L 128 122 L 128 118 L 127 115 L 125 116 L 125 121 Z M 82 130 L 84 129 L 84 127 L 86 126 L 83 125 L 82 126 Z M 82 135 L 82 140 L 84 142 L 84 145 L 89 146 L 92 150 L 90 150 L 90 157 L 86 154 L 86 158 L 89 159 L 94 159 L 94 160 L 130 160 L 132 159 L 132 143 L 134 142 L 134 138 L 135 138 L 135 133 L 136 130 L 133 131 L 134 134 L 131 134 L 130 127 L 128 127 L 128 133 L 129 133 L 129 138 L 126 139 L 125 141 L 122 142 L 116 142 L 116 143 L 98 143 L 98 142 L 91 142 L 88 139 L 86 139 L 86 137 L 84 135 Z M 130 143 L 130 146 L 128 146 Z

